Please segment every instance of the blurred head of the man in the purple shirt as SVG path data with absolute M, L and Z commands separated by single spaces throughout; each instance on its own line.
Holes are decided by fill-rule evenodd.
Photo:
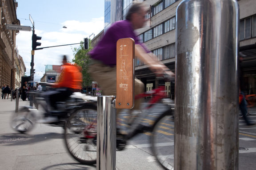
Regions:
M 131 8 L 129 8 L 128 13 L 125 17 L 128 21 L 132 23 L 133 29 L 139 29 L 144 27 L 147 19 L 145 15 L 147 14 L 146 7 L 143 3 L 134 3 Z

